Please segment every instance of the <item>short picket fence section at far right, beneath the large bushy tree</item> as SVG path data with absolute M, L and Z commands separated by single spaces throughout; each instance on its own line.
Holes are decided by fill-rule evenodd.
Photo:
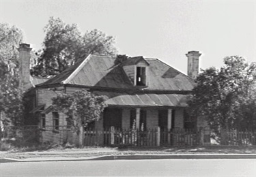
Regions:
M 227 146 L 256 145 L 256 132 L 221 130 L 221 145 L 227 145 Z

